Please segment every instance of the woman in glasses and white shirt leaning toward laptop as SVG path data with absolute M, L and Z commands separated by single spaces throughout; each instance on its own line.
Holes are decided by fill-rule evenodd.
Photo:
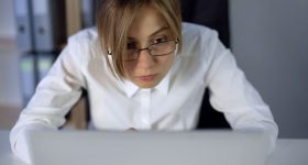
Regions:
M 72 36 L 11 131 L 13 152 L 30 162 L 29 130 L 56 130 L 89 95 L 98 130 L 191 130 L 205 88 L 234 130 L 277 125 L 215 31 L 182 23 L 177 0 L 107 0 L 97 29 Z

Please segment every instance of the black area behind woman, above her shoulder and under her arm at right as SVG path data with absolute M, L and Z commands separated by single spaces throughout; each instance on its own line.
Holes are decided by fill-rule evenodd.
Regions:
M 183 21 L 207 25 L 219 33 L 221 42 L 229 47 L 228 0 L 182 0 Z M 206 89 L 197 129 L 229 129 L 224 116 L 209 103 Z

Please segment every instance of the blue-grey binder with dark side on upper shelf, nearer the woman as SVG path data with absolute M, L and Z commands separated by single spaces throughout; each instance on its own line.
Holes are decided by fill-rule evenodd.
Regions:
M 32 0 L 34 51 L 59 51 L 66 42 L 65 1 Z

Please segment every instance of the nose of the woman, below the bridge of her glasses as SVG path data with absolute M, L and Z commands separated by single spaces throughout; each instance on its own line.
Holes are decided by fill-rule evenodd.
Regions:
M 140 68 L 151 68 L 155 65 L 155 59 L 152 57 L 152 55 L 148 53 L 147 48 L 140 50 L 140 55 L 138 59 L 138 66 Z

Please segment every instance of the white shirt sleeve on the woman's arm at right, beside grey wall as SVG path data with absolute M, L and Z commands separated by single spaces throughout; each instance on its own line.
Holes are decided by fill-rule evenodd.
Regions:
M 232 53 L 218 38 L 217 33 L 209 37 L 207 54 L 209 70 L 206 77 L 210 90 L 211 106 L 224 113 L 234 130 L 263 130 L 271 139 L 273 151 L 278 134 L 268 106 L 238 67 Z

